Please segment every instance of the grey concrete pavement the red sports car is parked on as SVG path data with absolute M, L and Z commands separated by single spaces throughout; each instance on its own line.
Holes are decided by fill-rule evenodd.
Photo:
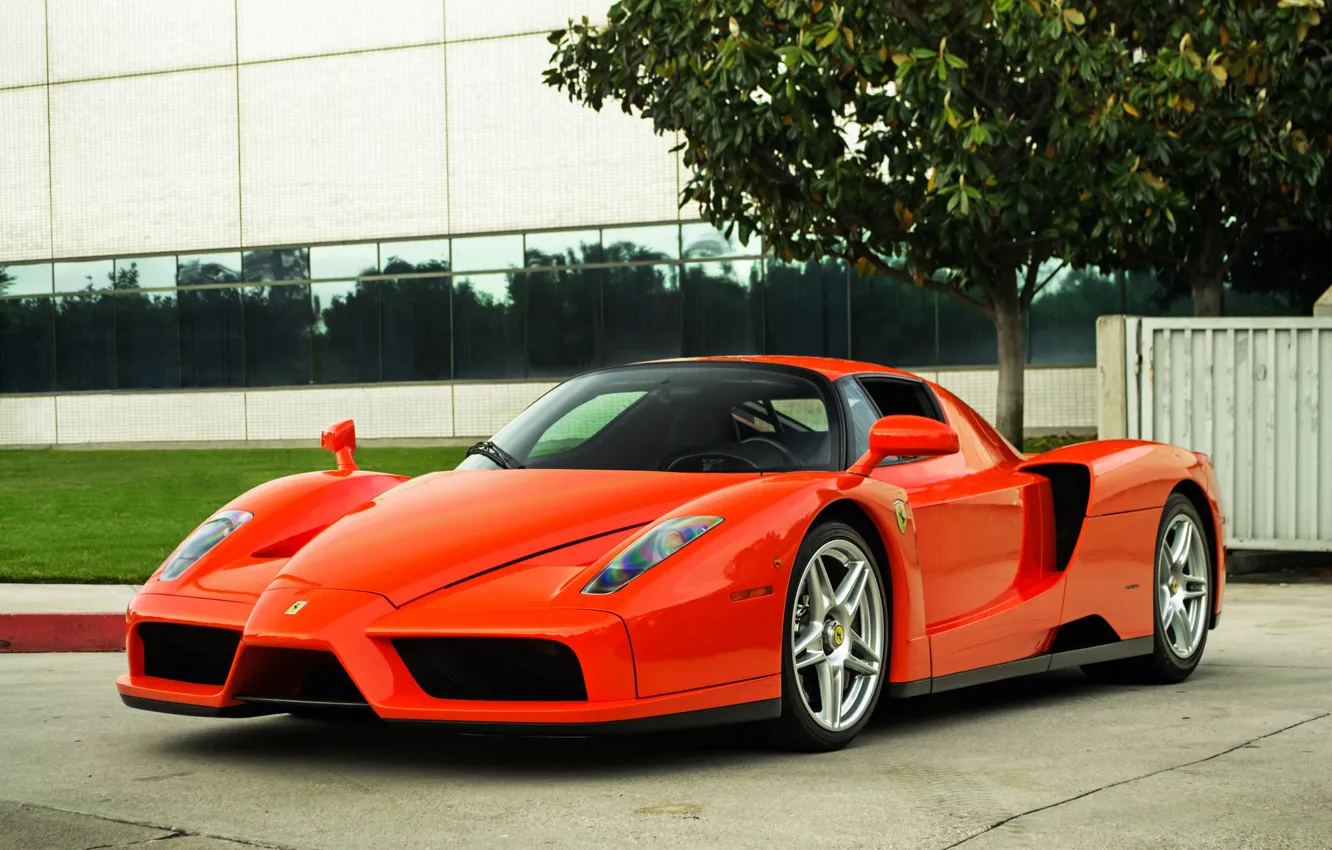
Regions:
M 0 655 L 0 849 L 1332 847 L 1332 586 L 1232 585 L 1183 686 L 1078 671 L 743 730 L 453 737 L 124 709 L 123 655 Z M 165 849 L 164 849 L 165 850 Z

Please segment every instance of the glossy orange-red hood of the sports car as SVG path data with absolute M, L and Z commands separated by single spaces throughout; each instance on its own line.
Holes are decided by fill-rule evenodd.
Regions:
M 581 469 L 422 476 L 334 522 L 274 586 L 366 590 L 401 606 L 570 544 L 606 537 L 610 549 L 629 529 L 757 477 Z

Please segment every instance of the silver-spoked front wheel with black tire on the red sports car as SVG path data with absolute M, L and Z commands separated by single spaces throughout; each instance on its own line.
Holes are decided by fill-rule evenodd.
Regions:
M 785 746 L 839 750 L 870 722 L 888 673 L 887 588 L 874 550 L 850 525 L 821 522 L 801 544 L 782 621 L 782 717 L 774 721 Z

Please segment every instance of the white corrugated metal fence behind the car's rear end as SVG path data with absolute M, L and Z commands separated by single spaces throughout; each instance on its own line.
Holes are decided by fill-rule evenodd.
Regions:
M 1209 454 L 1227 546 L 1332 550 L 1332 320 L 1107 316 L 1098 361 L 1102 438 Z

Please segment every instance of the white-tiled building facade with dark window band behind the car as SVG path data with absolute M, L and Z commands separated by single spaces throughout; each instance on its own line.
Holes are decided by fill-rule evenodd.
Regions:
M 606 0 L 0 0 L 0 445 L 492 433 L 657 357 L 914 368 L 992 409 L 994 332 L 681 208 L 677 140 L 542 84 Z M 1028 425 L 1095 422 L 1095 316 L 1036 302 Z

